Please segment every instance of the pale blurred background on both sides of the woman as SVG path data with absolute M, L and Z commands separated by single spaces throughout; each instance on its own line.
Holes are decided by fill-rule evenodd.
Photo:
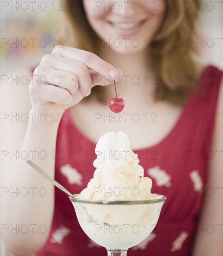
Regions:
M 55 44 L 62 43 L 55 37 L 55 24 L 63 13 L 61 0 L 0 0 L 0 5 L 1 76 L 38 65 L 44 54 L 50 53 Z M 190 43 L 197 44 L 204 64 L 223 69 L 223 1 L 201 0 L 198 10 L 200 38 Z M 4 252 L 2 243 L 0 248 L 1 256 L 10 255 Z

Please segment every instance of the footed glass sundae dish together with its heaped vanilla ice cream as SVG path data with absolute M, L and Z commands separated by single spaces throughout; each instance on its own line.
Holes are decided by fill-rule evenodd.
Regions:
M 80 194 L 69 196 L 81 228 L 108 256 L 126 256 L 155 228 L 166 196 L 151 194 L 138 156 L 123 132 L 109 132 L 96 145 L 94 176 Z

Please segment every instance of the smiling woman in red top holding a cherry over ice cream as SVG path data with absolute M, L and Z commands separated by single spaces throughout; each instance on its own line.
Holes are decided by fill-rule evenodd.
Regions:
M 70 47 L 43 56 L 29 91 L 4 88 L 5 112 L 30 113 L 27 123 L 5 125 L 11 132 L 5 148 L 36 152 L 30 159 L 72 193 L 92 178 L 98 138 L 113 130 L 129 136 L 144 175 L 152 178 L 152 192 L 168 197 L 157 227 L 129 256 L 222 254 L 222 192 L 216 190 L 223 186 L 222 163 L 209 155 L 221 151 L 222 120 L 208 115 L 222 112 L 222 72 L 194 61 L 188 40 L 195 33 L 196 4 L 67 1 Z M 125 100 L 120 115 L 107 105 L 114 80 Z M 5 187 L 35 188 L 27 196 L 3 197 L 2 223 L 19 229 L 2 235 L 10 251 L 106 254 L 80 229 L 67 196 L 54 193 L 22 157 L 6 160 L 5 168 Z M 23 225 L 30 227 L 26 234 Z

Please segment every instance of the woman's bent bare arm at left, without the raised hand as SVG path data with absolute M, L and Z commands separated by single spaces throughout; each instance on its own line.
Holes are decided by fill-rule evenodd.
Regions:
M 18 75 L 29 77 L 27 70 L 17 71 L 9 74 L 15 78 Z M 30 78 L 31 80 L 31 78 Z M 50 176 L 54 176 L 55 160 L 52 157 L 52 150 L 55 149 L 57 128 L 59 123 L 51 125 L 41 122 L 22 122 L 21 114 L 29 114 L 32 108 L 29 97 L 29 83 L 21 85 L 13 81 L 3 83 L 1 86 L 1 113 L 8 118 L 1 121 L 1 227 L 2 238 L 11 252 L 16 255 L 31 255 L 39 250 L 46 242 L 50 231 L 54 198 L 53 188 L 41 175 L 33 170 L 26 163 L 26 154 L 12 155 L 25 150 L 29 159 L 43 168 Z M 35 111 L 33 111 L 35 112 Z M 18 113 L 18 114 L 17 114 Z M 10 120 L 10 116 L 18 115 L 19 118 Z M 23 115 L 23 120 L 26 120 Z M 32 151 L 37 150 L 32 155 Z M 46 150 L 46 160 L 41 160 L 38 156 L 40 150 Z M 10 153 L 11 152 L 11 153 Z M 32 190 L 30 188 L 36 188 Z M 39 188 L 45 188 L 47 195 L 39 195 Z M 26 188 L 21 190 L 21 188 Z M 18 191 L 12 193 L 12 191 Z M 22 196 L 22 194 L 27 196 Z M 44 191 L 44 190 L 42 190 Z M 33 194 L 32 194 L 33 193 Z M 34 195 L 34 196 L 33 196 Z M 34 226 L 36 225 L 36 226 Z M 47 232 L 41 234 L 46 227 Z M 21 229 L 23 227 L 23 229 Z M 28 227 L 28 228 L 26 228 Z M 27 234 L 26 231 L 28 230 Z M 42 232 L 43 233 L 43 232 Z

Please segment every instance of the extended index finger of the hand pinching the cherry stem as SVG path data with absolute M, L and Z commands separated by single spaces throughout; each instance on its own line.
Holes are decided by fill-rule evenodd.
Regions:
M 84 63 L 87 67 L 104 75 L 106 78 L 113 79 L 117 76 L 121 76 L 116 67 L 113 67 L 110 63 L 99 58 L 96 54 L 88 51 L 68 46 L 56 46 L 52 50 L 52 53 L 57 53 L 62 57 Z

